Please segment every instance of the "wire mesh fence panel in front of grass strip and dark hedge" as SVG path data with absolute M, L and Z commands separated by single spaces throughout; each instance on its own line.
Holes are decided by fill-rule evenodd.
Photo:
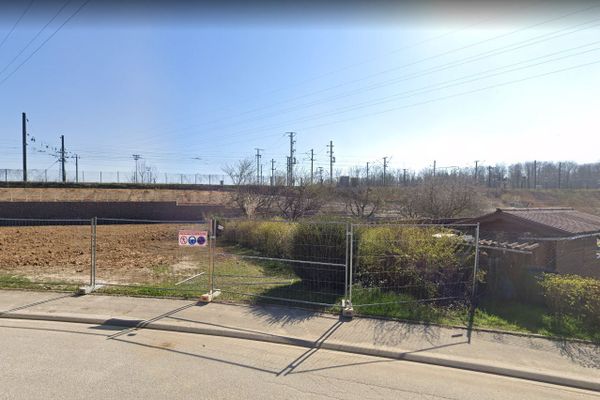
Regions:
M 219 220 L 214 285 L 229 298 L 341 304 L 347 224 Z

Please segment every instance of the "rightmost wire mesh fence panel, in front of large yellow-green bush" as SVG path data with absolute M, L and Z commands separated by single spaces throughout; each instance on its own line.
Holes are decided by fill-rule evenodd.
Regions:
M 365 314 L 415 317 L 469 305 L 477 225 L 354 224 L 349 300 Z

